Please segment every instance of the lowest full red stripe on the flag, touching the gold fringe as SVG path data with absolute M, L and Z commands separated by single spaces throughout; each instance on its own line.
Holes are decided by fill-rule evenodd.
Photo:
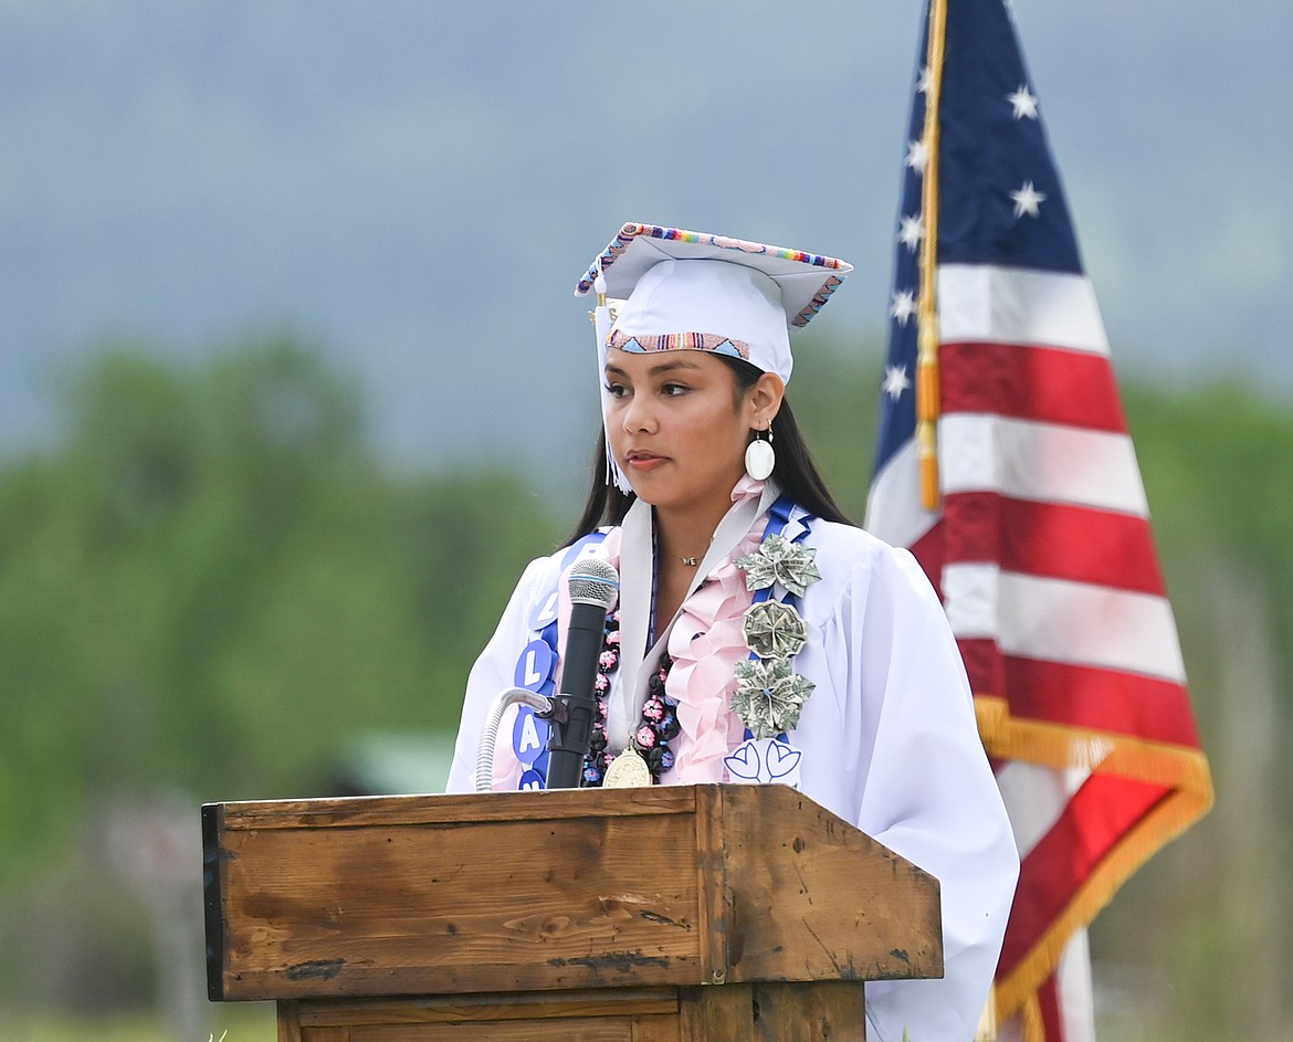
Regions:
M 1186 689 L 1140 674 L 1005 655 L 990 640 L 958 640 L 975 694 L 1010 696 L 1019 720 L 1199 745 Z

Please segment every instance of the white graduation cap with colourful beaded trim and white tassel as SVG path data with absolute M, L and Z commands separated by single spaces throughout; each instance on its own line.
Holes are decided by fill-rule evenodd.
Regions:
M 626 224 L 574 292 L 597 293 L 599 383 L 609 346 L 732 354 L 789 381 L 790 326 L 807 326 L 852 270 L 842 260 L 800 250 Z M 606 454 L 612 477 L 627 493 L 609 433 Z

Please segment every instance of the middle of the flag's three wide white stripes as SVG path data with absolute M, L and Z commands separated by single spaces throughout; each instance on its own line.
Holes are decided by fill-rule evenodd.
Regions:
M 944 493 L 992 491 L 1148 516 L 1126 434 L 953 412 L 939 423 Z

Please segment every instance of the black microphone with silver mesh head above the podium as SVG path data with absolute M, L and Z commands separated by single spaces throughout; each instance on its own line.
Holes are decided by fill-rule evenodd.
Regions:
M 548 738 L 548 789 L 579 787 L 583 758 L 588 755 L 592 720 L 597 712 L 592 685 L 597 679 L 606 613 L 619 595 L 619 573 L 608 561 L 581 557 L 570 570 L 568 588 L 570 624 L 561 658 L 561 692 L 552 699 L 561 706 Z M 564 723 L 562 716 L 566 718 Z

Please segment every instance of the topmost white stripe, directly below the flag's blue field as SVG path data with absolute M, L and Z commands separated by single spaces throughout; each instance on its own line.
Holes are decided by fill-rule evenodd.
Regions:
M 987 264 L 939 265 L 939 340 L 1109 353 L 1086 275 Z

